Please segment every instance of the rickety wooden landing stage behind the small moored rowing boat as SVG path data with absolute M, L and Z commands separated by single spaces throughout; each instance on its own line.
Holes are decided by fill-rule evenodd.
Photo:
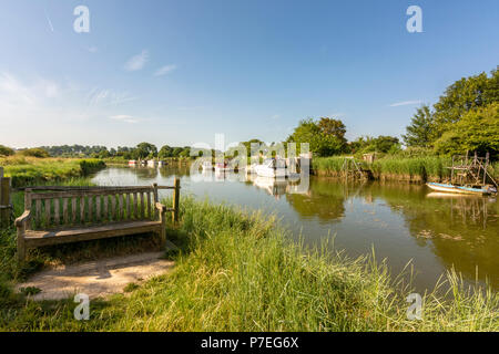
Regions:
M 486 157 L 478 157 L 475 153 L 473 157 L 470 157 L 468 153 L 466 155 L 452 156 L 452 166 L 450 168 L 450 184 L 459 186 L 487 186 L 487 181 L 490 180 L 492 185 L 498 187 L 497 181 L 488 173 L 489 167 L 489 153 Z

